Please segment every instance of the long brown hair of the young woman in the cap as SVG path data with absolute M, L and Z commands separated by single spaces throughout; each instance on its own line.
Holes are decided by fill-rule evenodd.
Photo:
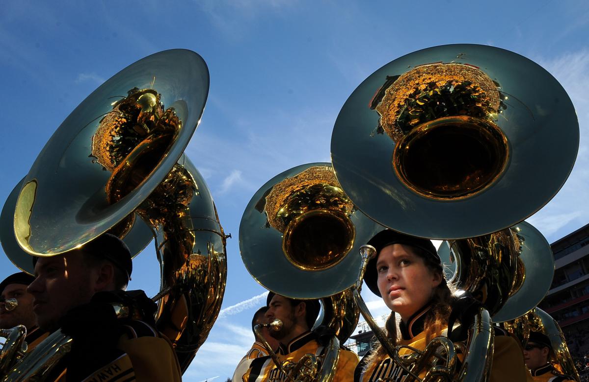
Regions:
M 425 313 L 423 327 L 425 328 L 425 341 L 429 343 L 436 333 L 445 329 L 448 325 L 452 299 L 454 297 L 452 297 L 452 290 L 448 286 L 448 283 L 446 283 L 444 269 L 442 269 L 441 264 L 432 259 L 432 255 L 421 248 L 411 246 L 411 250 L 423 260 L 423 263 L 431 272 L 438 273 L 442 277 L 442 282 L 434 289 L 434 293 L 432 293 L 432 297 L 429 300 L 431 307 Z M 391 340 L 391 343 L 395 346 L 398 345 L 400 340 L 397 336 L 397 323 L 394 311 L 391 311 L 391 315 L 386 320 L 385 329 L 386 336 Z M 371 370 L 386 357 L 388 357 L 388 354 L 386 353 L 385 347 L 379 343 L 367 358 L 366 371 Z

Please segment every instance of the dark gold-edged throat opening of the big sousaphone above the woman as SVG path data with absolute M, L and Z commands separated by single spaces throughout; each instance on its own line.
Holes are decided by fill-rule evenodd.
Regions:
M 456 161 L 449 143 L 468 150 L 468 162 Z M 458 149 L 458 148 L 456 148 Z M 452 116 L 422 123 L 405 135 L 393 152 L 393 168 L 405 186 L 438 200 L 459 200 L 483 192 L 507 166 L 507 138 L 494 123 Z

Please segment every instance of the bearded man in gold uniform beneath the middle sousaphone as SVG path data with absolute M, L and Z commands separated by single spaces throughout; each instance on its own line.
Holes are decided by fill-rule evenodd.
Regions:
M 305 354 L 319 356 L 326 346 L 325 337 L 333 336 L 329 333 L 322 335 L 322 329 L 310 329 L 319 315 L 320 304 L 317 300 L 293 300 L 270 292 L 267 297 L 269 321 L 282 321 L 282 328 L 270 330 L 270 335 L 280 341 L 277 350 L 279 361 L 297 363 Z M 283 362 L 284 363 L 284 362 Z M 358 364 L 358 356 L 352 351 L 341 349 L 337 361 L 334 382 L 352 381 L 353 370 Z M 274 364 L 271 356 L 256 358 L 243 376 L 244 382 L 262 381 L 290 381 L 282 368 Z

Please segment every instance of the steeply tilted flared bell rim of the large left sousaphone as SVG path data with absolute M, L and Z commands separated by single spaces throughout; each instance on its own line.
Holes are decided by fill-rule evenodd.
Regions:
M 114 205 L 107 205 L 104 196 L 100 193 L 102 186 L 94 185 L 99 190 L 94 193 L 92 191 L 82 191 L 80 199 L 85 200 L 85 202 L 82 202 L 77 207 L 72 207 L 67 212 L 68 215 L 62 216 L 39 212 L 37 206 L 43 206 L 43 209 L 49 211 L 51 210 L 51 203 L 55 203 L 54 200 L 50 202 L 53 195 L 49 194 L 63 195 L 65 193 L 65 186 L 62 183 L 70 184 L 72 183 L 71 179 L 77 179 L 77 182 L 83 183 L 80 182 L 80 179 L 90 179 L 90 176 L 86 175 L 86 173 L 74 176 L 72 172 L 68 175 L 66 172 L 69 169 L 62 169 L 61 164 L 71 162 L 70 157 L 75 155 L 76 150 L 79 150 L 80 153 L 84 154 L 85 159 L 88 159 L 87 146 L 90 145 L 88 140 L 94 130 L 90 127 L 97 125 L 98 120 L 110 112 L 111 109 L 108 109 L 108 106 L 112 104 L 112 97 L 133 87 L 146 88 L 154 82 L 154 78 L 154 89 L 162 93 L 162 102 L 168 108 L 175 108 L 177 112 L 181 113 L 181 127 L 178 129 L 176 142 L 162 156 L 160 163 L 144 179 L 144 182 Z M 187 81 L 187 78 L 190 81 Z M 178 89 L 178 83 L 183 83 L 184 87 Z M 92 92 L 59 126 L 35 160 L 28 175 L 25 176 L 24 184 L 31 180 L 39 182 L 36 209 L 33 212 L 30 224 L 33 229 L 37 230 L 37 233 L 31 234 L 31 240 L 35 241 L 31 242 L 17 238 L 25 252 L 34 256 L 54 256 L 68 252 L 107 232 L 108 229 L 133 212 L 166 177 L 184 149 L 186 149 L 198 123 L 200 123 L 208 92 L 209 70 L 207 65 L 200 55 L 188 49 L 170 49 L 140 59 L 116 73 Z M 87 122 L 89 109 L 94 110 L 94 112 L 90 113 L 92 115 L 90 117 L 91 122 Z M 100 109 L 100 111 L 96 109 Z M 190 112 L 188 112 L 188 109 L 190 109 Z M 80 120 L 84 120 L 84 122 L 79 122 Z M 78 125 L 72 128 L 72 125 L 75 125 L 76 122 L 78 122 Z M 82 131 L 78 131 L 80 125 L 85 126 Z M 70 142 L 65 150 L 60 147 L 63 146 L 62 142 Z M 62 158 L 64 156 L 67 156 L 68 160 Z M 57 159 L 51 159 L 52 157 Z M 92 167 L 95 173 L 102 171 L 100 165 L 95 163 L 93 165 L 88 163 L 82 166 L 77 165 L 75 170 L 83 172 Z M 54 190 L 45 195 L 42 185 L 45 182 L 49 184 L 49 176 L 52 178 L 51 188 Z M 98 178 L 102 177 L 104 175 L 98 176 Z M 98 180 L 93 180 L 93 182 L 100 183 Z M 58 186 L 57 189 L 55 189 L 55 185 Z M 62 187 L 62 189 L 59 189 L 59 187 Z M 104 194 L 104 191 L 102 193 Z M 70 197 L 72 196 L 70 195 Z M 44 219 L 49 220 L 43 222 L 33 220 L 36 219 L 37 214 L 45 216 Z M 47 218 L 47 216 L 52 217 Z M 59 221 L 59 224 L 55 223 L 57 221 Z M 56 226 L 61 227 L 61 232 L 55 230 Z M 64 238 L 62 232 L 67 232 L 68 237 Z M 72 237 L 75 237 L 75 239 L 72 239 Z

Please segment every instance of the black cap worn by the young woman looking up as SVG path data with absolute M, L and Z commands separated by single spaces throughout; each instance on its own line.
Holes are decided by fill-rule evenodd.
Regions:
M 364 283 L 368 286 L 372 293 L 379 297 L 382 296 L 380 296 L 378 284 L 376 283 L 378 279 L 378 274 L 376 273 L 376 260 L 378 260 L 378 255 L 384 247 L 390 246 L 391 244 L 405 244 L 411 247 L 416 247 L 422 249 L 426 254 L 431 256 L 431 259 L 434 260 L 434 262 L 440 264 L 440 266 L 442 264 L 434 244 L 431 242 L 431 240 L 423 239 L 423 237 L 409 236 L 408 234 L 396 232 L 391 229 L 385 229 L 375 234 L 375 236 L 373 236 L 372 239 L 370 239 L 366 244 L 375 247 L 376 256 L 373 257 L 373 259 L 371 259 L 366 266 Z

